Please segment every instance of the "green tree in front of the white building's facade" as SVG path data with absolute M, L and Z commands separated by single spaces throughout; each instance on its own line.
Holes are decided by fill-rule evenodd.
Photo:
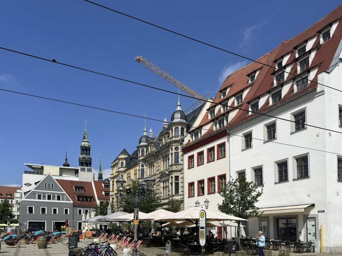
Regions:
M 232 178 L 232 177 L 231 177 Z M 225 214 L 235 217 L 249 219 L 259 217 L 262 212 L 258 212 L 260 208 L 255 206 L 259 201 L 259 197 L 263 193 L 264 185 L 259 188 L 255 187 L 254 182 L 246 181 L 245 175 L 239 175 L 237 179 L 231 179 L 225 187 L 220 187 L 219 194 L 223 197 L 222 203 L 218 204 L 218 208 Z M 237 243 L 240 247 L 240 223 L 237 221 Z

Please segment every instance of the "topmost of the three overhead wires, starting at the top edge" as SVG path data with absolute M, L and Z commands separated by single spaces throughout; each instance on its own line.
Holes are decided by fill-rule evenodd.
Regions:
M 220 50 L 220 51 L 223 51 L 223 52 L 226 52 L 226 53 L 229 53 L 229 54 L 232 54 L 232 55 L 235 55 L 235 56 L 238 56 L 238 57 L 241 57 L 241 58 L 244 58 L 244 59 L 247 59 L 247 60 L 250 60 L 250 61 L 256 62 L 256 63 L 259 63 L 259 64 L 261 64 L 261 65 L 263 65 L 263 66 L 267 66 L 267 67 L 270 67 L 270 68 L 274 68 L 274 67 L 272 67 L 271 65 L 268 65 L 268 64 L 262 63 L 262 62 L 260 62 L 260 61 L 257 61 L 257 60 L 253 60 L 253 59 L 251 59 L 251 58 L 248 58 L 248 57 L 246 57 L 246 56 L 243 56 L 243 55 L 240 55 L 240 54 L 237 54 L 237 53 L 234 53 L 234 52 L 228 51 L 228 50 L 226 50 L 226 49 L 223 49 L 223 48 L 221 48 L 221 47 L 218 47 L 218 46 L 215 46 L 215 45 L 212 45 L 212 44 L 209 44 L 209 43 L 206 43 L 206 42 L 200 41 L 200 40 L 198 40 L 198 39 L 195 39 L 195 38 L 192 38 L 192 37 L 188 37 L 187 35 L 184 35 L 184 34 L 181 34 L 181 33 L 175 32 L 175 31 L 173 31 L 173 30 L 171 30 L 171 29 L 167 29 L 167 28 L 164 28 L 164 27 L 158 26 L 158 25 L 156 25 L 156 24 L 153 24 L 153 23 L 147 22 L 146 20 L 143 20 L 143 19 L 136 18 L 136 17 L 134 17 L 134 16 L 131 16 L 131 15 L 128 15 L 128 14 L 126 14 L 126 13 L 119 12 L 119 11 L 117 11 L 117 10 L 114 10 L 114 9 L 111 9 L 111 8 L 109 8 L 109 7 L 107 7 L 107 6 L 104 6 L 104 5 L 101 5 L 101 4 L 98 4 L 98 3 L 95 3 L 95 2 L 89 1 L 89 0 L 83 0 L 83 1 L 86 1 L 86 2 L 88 2 L 88 3 L 91 3 L 91 4 L 95 4 L 95 5 L 97 5 L 97 6 L 100 6 L 100 7 L 104 8 L 104 9 L 107 9 L 107 10 L 109 10 L 109 11 L 113 11 L 113 12 L 116 12 L 116 13 L 118 13 L 118 14 L 121 14 L 121 15 L 127 16 L 127 17 L 129 17 L 129 18 L 132 18 L 132 19 L 135 19 L 135 20 L 139 20 L 140 22 L 146 23 L 146 24 L 148 24 L 148 25 L 151 25 L 151 26 L 154 26 L 154 27 L 156 27 L 156 28 L 160 28 L 160 29 L 162 29 L 162 30 L 165 30 L 165 31 L 168 31 L 168 32 L 170 32 L 170 33 L 173 33 L 173 34 L 179 35 L 179 36 L 181 36 L 181 37 L 184 37 L 184 38 L 190 39 L 190 40 L 192 40 L 192 41 L 195 41 L 195 42 L 198 42 L 198 43 L 201 43 L 201 44 L 204 44 L 204 45 L 207 45 L 207 46 L 213 47 L 213 48 L 215 48 L 215 49 L 218 49 L 218 50 Z M 285 71 L 285 70 L 283 70 L 283 72 L 284 72 L 284 73 L 288 73 L 288 74 L 290 74 L 290 75 L 293 75 L 293 76 L 296 76 L 296 77 L 298 77 L 298 78 L 301 78 L 301 79 L 306 79 L 306 77 L 302 77 L 302 76 L 299 76 L 298 74 L 293 74 L 293 73 L 287 72 L 287 71 Z M 307 80 L 307 81 L 310 81 L 310 82 L 312 82 L 312 80 L 308 80 L 308 79 L 306 79 L 306 80 Z M 333 90 L 340 91 L 340 92 L 342 93 L 342 90 L 339 90 L 339 89 L 337 89 L 337 88 L 333 88 L 333 87 L 331 87 L 331 86 L 324 85 L 324 84 L 321 84 L 321 83 L 318 83 L 318 82 L 313 82 L 313 83 L 316 83 L 316 84 L 319 84 L 319 85 L 322 85 L 322 86 L 328 87 L 328 88 L 330 88 L 330 89 L 333 89 Z

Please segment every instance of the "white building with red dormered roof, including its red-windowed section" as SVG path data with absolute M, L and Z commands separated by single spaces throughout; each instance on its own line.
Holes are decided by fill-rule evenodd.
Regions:
M 185 138 L 185 209 L 217 210 L 220 184 L 244 174 L 264 186 L 247 236 L 314 241 L 322 226 L 323 252 L 341 251 L 341 18 L 342 5 L 227 76 Z

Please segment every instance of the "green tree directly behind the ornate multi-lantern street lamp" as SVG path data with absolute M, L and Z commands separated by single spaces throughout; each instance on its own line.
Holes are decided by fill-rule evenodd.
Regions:
M 140 195 L 139 181 L 131 180 L 131 184 L 127 186 L 132 189 L 132 194 L 135 195 L 136 191 Z M 126 193 L 126 191 L 124 191 Z M 139 211 L 144 213 L 150 213 L 158 209 L 161 202 L 160 197 L 157 195 L 156 191 L 152 190 L 149 196 L 146 196 L 143 201 L 141 201 L 139 206 Z M 118 210 L 132 213 L 134 212 L 135 202 L 130 202 L 127 198 L 119 198 L 118 200 Z

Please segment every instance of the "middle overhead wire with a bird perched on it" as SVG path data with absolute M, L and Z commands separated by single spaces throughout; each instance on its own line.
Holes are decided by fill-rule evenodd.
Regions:
M 31 54 L 27 54 L 27 53 L 18 52 L 18 51 L 12 50 L 12 49 L 4 48 L 4 47 L 1 47 L 1 46 L 0 46 L 0 49 L 4 49 L 4 50 L 6 50 L 6 51 L 10 51 L 10 52 L 22 54 L 22 55 L 25 55 L 25 56 L 29 56 L 29 57 L 33 57 L 33 58 L 37 58 L 37 59 L 41 59 L 41 60 L 45 60 L 45 61 L 57 63 L 57 64 L 60 64 L 60 65 L 63 65 L 63 66 L 67 66 L 67 67 L 71 67 L 71 68 L 75 68 L 75 69 L 80 69 L 80 70 L 87 71 L 87 72 L 91 72 L 91 73 L 94 73 L 94 74 L 103 75 L 103 76 L 111 77 L 111 78 L 114 78 L 114 79 L 118 79 L 118 80 L 121 80 L 121 81 L 124 81 L 124 82 L 129 82 L 129 83 L 132 83 L 132 84 L 141 85 L 141 86 L 145 86 L 145 87 L 148 87 L 148 88 L 152 88 L 152 89 L 156 89 L 156 90 L 160 90 L 160 91 L 165 91 L 165 92 L 167 92 L 167 93 L 172 93 L 172 94 L 184 96 L 184 97 L 187 97 L 187 98 L 193 98 L 193 99 L 196 99 L 196 100 L 197 100 L 197 98 L 195 98 L 195 97 L 193 97 L 193 96 L 190 96 L 190 95 L 178 94 L 178 93 L 176 93 L 176 92 L 168 91 L 168 90 L 161 89 L 161 88 L 158 88 L 158 87 L 154 87 L 154 86 L 150 86 L 150 85 L 146 85 L 146 84 L 142 84 L 142 83 L 133 82 L 133 81 L 130 81 L 130 80 L 127 80 L 127 79 L 123 79 L 123 78 L 120 78 L 120 77 L 116 77 L 116 76 L 112 76 L 112 75 L 108 75 L 108 74 L 104 74 L 104 73 L 92 71 L 92 70 L 89 70 L 89 69 L 80 68 L 80 67 L 73 66 L 73 65 L 69 65 L 69 64 L 66 64 L 66 63 L 62 63 L 62 62 L 57 62 L 55 59 L 50 60 L 50 59 L 38 57 L 38 56 L 35 56 L 35 55 L 31 55 Z M 221 105 L 221 106 L 223 105 L 223 104 L 220 104 L 220 103 L 215 103 L 215 102 L 210 101 L 210 100 L 204 100 L 204 99 L 203 99 L 202 101 L 214 103 L 215 106 L 216 106 L 216 105 Z M 241 109 L 241 108 L 237 108 L 236 106 L 229 106 L 229 108 L 238 109 L 238 110 L 242 110 L 242 111 L 245 111 L 245 112 L 248 112 L 248 113 L 263 115 L 263 116 L 272 117 L 272 118 L 276 118 L 276 119 L 279 119 L 279 120 L 284 120 L 284 121 L 287 121 L 287 122 L 295 123 L 294 120 L 289 120 L 289 119 L 282 118 L 282 117 L 276 117 L 276 116 L 272 116 L 272 115 L 267 115 L 267 114 L 264 114 L 264 113 L 258 113 L 258 112 L 251 111 L 251 110 Z M 323 128 L 323 127 L 319 127 L 319 126 L 315 126 L 315 125 L 309 125 L 309 124 L 305 124 L 305 125 L 306 125 L 306 126 L 309 126 L 309 127 L 314 127 L 314 128 L 317 128 L 317 129 L 326 130 L 326 131 L 342 133 L 341 131 L 331 130 L 331 129 L 328 129 L 328 128 Z

